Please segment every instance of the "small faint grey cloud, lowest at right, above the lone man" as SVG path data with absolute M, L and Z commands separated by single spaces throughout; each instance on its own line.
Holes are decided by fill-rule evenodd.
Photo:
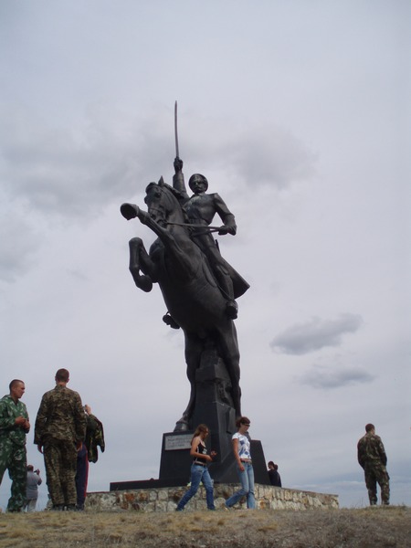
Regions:
M 347 385 L 363 385 L 374 381 L 374 375 L 360 368 L 325 367 L 313 365 L 311 371 L 300 378 L 302 385 L 310 385 L 313 388 L 340 388 Z

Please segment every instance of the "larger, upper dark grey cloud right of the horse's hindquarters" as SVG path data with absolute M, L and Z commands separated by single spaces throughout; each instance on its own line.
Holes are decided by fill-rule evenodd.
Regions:
M 336 320 L 312 318 L 307 323 L 300 323 L 279 333 L 270 342 L 270 347 L 287 354 L 302 355 L 315 352 L 326 346 L 339 346 L 342 335 L 358 331 L 363 319 L 358 314 L 340 314 Z

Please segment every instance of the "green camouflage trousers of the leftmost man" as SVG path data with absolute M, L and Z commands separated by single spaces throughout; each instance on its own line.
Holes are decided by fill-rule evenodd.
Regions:
M 6 469 L 12 480 L 7 511 L 22 511 L 26 504 L 26 446 L 17 446 L 7 437 L 0 437 L 0 483 Z

